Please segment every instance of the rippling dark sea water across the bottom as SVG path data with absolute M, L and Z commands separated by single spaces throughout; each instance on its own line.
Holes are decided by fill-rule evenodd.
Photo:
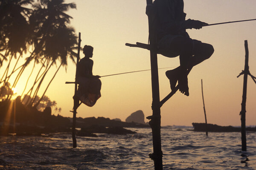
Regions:
M 0 170 L 153 170 L 150 128 L 129 128 L 137 134 L 70 133 L 41 136 L 1 136 Z M 205 133 L 192 127 L 162 127 L 164 170 L 256 170 L 256 133 L 247 133 L 247 152 L 241 133 Z

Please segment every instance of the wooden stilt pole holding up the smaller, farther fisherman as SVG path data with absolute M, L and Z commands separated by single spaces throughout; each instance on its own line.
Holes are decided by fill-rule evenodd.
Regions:
M 78 63 L 79 63 L 79 56 L 80 56 L 80 45 L 81 45 L 81 33 L 79 32 L 79 39 L 78 39 L 78 51 L 77 51 L 77 58 L 76 58 L 76 80 L 75 80 L 75 96 L 74 99 L 74 106 L 73 106 L 73 125 L 72 125 L 72 140 L 73 140 L 73 148 L 76 148 L 76 109 L 79 106 L 79 98 L 77 97 L 77 72 L 78 72 Z

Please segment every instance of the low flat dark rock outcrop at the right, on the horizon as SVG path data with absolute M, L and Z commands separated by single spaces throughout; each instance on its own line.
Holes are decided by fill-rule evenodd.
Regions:
M 205 123 L 192 123 L 194 131 L 205 132 Z M 219 126 L 207 123 L 208 132 L 241 132 L 241 127 Z M 256 132 L 256 127 L 246 127 L 247 131 Z

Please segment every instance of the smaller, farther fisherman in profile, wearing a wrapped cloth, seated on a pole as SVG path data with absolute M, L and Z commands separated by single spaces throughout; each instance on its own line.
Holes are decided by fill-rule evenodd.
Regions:
M 93 106 L 101 97 L 100 76 L 93 76 L 93 47 L 84 45 L 84 58 L 78 63 L 77 82 L 79 84 L 78 97 L 87 106 Z

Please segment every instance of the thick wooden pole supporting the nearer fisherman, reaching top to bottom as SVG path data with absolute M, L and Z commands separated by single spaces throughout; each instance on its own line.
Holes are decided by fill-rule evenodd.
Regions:
M 152 128 L 153 153 L 149 157 L 154 161 L 155 170 L 163 170 L 163 152 L 161 149 L 161 116 L 160 116 L 160 95 L 159 95 L 159 79 L 157 66 L 157 39 L 155 34 L 155 20 L 153 1 L 147 1 L 146 14 L 148 15 L 148 31 L 150 42 L 150 61 L 151 61 L 151 85 L 152 85 L 152 110 L 153 115 L 150 116 L 149 125 Z

